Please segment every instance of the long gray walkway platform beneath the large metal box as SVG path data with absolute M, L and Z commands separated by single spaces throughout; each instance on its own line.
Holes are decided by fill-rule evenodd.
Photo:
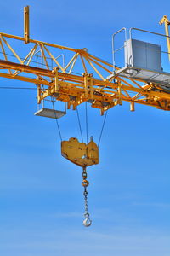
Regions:
M 143 69 L 141 67 L 123 67 L 116 71 L 116 75 L 127 79 L 142 79 L 146 83 L 155 83 L 170 88 L 170 73 L 157 72 L 150 69 Z

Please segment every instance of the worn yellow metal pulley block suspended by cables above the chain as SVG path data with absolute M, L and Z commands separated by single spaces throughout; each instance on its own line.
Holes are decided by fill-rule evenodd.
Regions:
M 93 166 L 99 164 L 99 148 L 93 138 L 88 144 L 79 143 L 76 137 L 61 142 L 61 154 L 77 166 Z

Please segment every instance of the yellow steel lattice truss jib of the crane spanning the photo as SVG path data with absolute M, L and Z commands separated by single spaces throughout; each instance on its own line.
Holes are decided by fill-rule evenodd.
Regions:
M 73 49 L 29 39 L 26 47 L 29 45 L 28 49 L 30 46 L 31 49 L 21 59 L 9 43 L 11 39 L 15 40 L 14 45 L 16 42 L 26 43 L 26 38 L 0 33 L 0 77 L 36 84 L 39 104 L 48 96 L 53 96 L 57 101 L 67 102 L 67 107 L 72 106 L 73 109 L 82 102 L 90 102 L 93 108 L 100 109 L 101 114 L 118 104 L 122 105 L 123 101 L 130 102 L 131 111 L 134 111 L 135 103 L 170 110 L 169 91 L 162 90 L 159 84 L 111 76 L 113 69 L 119 67 L 90 55 L 87 49 Z M 44 63 L 42 68 L 32 64 L 38 49 Z M 69 55 L 72 54 L 65 67 L 54 57 L 56 49 L 64 49 Z M 8 52 L 14 56 L 14 61 L 8 60 Z M 49 61 L 54 61 L 54 67 L 50 67 Z M 77 61 L 82 75 L 73 73 Z M 108 79 L 109 76 L 111 79 Z

